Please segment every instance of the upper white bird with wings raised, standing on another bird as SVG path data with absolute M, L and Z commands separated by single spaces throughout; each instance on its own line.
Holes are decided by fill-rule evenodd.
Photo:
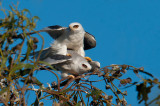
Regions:
M 77 22 L 71 23 L 69 27 L 49 26 L 38 32 L 47 32 L 57 42 L 66 44 L 68 50 L 74 50 L 83 57 L 85 56 L 84 50 L 96 46 L 94 36 L 85 32 L 82 25 Z

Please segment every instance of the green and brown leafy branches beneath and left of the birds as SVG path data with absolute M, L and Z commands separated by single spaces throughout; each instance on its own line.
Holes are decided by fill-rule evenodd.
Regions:
M 54 105 L 127 105 L 125 96 L 127 91 L 122 92 L 121 86 L 125 88 L 136 86 L 138 92 L 139 103 L 145 101 L 145 105 L 149 105 L 160 99 L 160 95 L 148 103 L 148 94 L 151 88 L 159 85 L 158 79 L 144 68 L 136 68 L 130 65 L 110 65 L 93 72 L 76 76 L 72 79 L 60 79 L 53 71 L 53 67 L 46 68 L 41 66 L 38 59 L 31 59 L 29 54 L 37 48 L 38 39 L 32 37 L 32 32 L 36 32 L 37 16 L 31 17 L 29 10 L 18 10 L 17 6 L 10 6 L 10 10 L 1 9 L 5 17 L 0 19 L 0 102 L 3 105 L 27 105 L 26 94 L 28 91 L 34 91 L 36 100 L 31 101 L 32 105 L 43 105 L 42 100 L 50 98 Z M 44 44 L 43 37 L 41 37 Z M 43 49 L 43 44 L 41 50 Z M 25 48 L 25 49 L 24 49 Z M 25 51 L 26 50 L 26 51 Z M 25 56 L 22 54 L 25 51 Z M 48 65 L 47 63 L 44 63 Z M 57 82 L 53 81 L 44 87 L 34 74 L 36 70 L 45 69 L 54 74 Z M 131 77 L 123 78 L 127 71 L 133 71 L 143 82 L 133 82 Z M 144 79 L 140 76 L 142 72 L 150 77 Z M 99 80 L 91 80 L 91 77 L 97 77 Z M 119 82 L 119 86 L 115 85 L 115 81 Z M 113 92 L 108 95 L 106 91 L 102 91 L 95 86 L 95 83 L 103 83 L 106 90 Z M 47 83 L 47 82 L 46 82 Z M 35 86 L 38 89 L 35 89 Z M 45 95 L 41 95 L 41 94 Z M 117 104 L 113 103 L 115 99 Z

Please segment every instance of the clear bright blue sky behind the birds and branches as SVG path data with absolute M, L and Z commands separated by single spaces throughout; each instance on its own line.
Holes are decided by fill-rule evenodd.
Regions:
M 2 0 L 2 4 L 8 8 L 11 0 Z M 33 16 L 40 17 L 37 30 L 80 22 L 97 40 L 97 47 L 86 51 L 86 55 L 99 61 L 101 67 L 110 64 L 143 66 L 159 78 L 159 4 L 159 0 L 21 0 L 19 8 L 27 8 Z M 52 39 L 45 33 L 44 37 L 45 47 L 48 47 Z M 52 80 L 51 76 L 43 78 Z M 136 106 L 135 87 L 127 90 L 128 103 Z M 157 92 L 155 88 L 151 96 Z

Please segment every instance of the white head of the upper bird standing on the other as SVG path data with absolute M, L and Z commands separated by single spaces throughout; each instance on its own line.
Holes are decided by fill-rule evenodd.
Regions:
M 71 31 L 74 31 L 74 32 L 84 31 L 82 25 L 78 22 L 71 23 L 69 25 L 69 28 L 71 29 Z

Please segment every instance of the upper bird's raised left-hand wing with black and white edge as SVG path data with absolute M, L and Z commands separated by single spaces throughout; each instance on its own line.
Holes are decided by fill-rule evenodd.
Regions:
M 47 32 L 53 39 L 57 39 L 58 37 L 63 35 L 63 33 L 65 32 L 66 29 L 67 29 L 67 27 L 54 25 L 54 26 L 48 26 L 48 27 L 40 30 L 39 32 Z

